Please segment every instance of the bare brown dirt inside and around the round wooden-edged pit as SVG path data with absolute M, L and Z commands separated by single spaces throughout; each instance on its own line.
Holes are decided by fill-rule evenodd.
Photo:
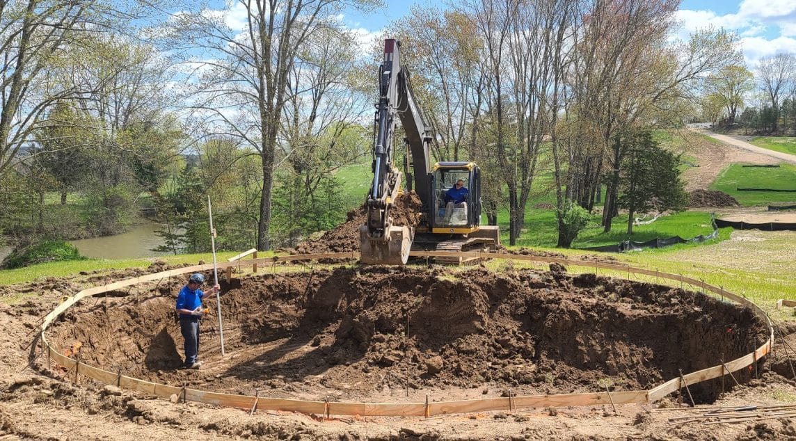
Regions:
M 150 271 L 116 273 L 129 277 Z M 30 343 L 35 343 L 33 329 L 41 316 L 60 297 L 83 287 L 87 278 L 93 279 L 89 285 L 106 279 L 91 274 L 5 287 L 0 302 L 0 436 L 728 440 L 787 439 L 796 433 L 790 420 L 672 427 L 667 419 L 683 416 L 683 411 L 650 412 L 641 405 L 618 405 L 616 415 L 610 406 L 595 406 L 431 420 L 345 417 L 324 422 L 291 412 L 249 416 L 206 404 L 175 404 L 85 379 L 76 385 L 63 370 L 48 370 Z M 228 356 L 217 354 L 214 319 L 209 318 L 202 326 L 201 349 L 207 369 L 175 371 L 171 366 L 181 338 L 170 310 L 179 287 L 181 280 L 164 279 L 112 293 L 107 317 L 106 299 L 87 299 L 57 324 L 53 339 L 66 348 L 80 341 L 81 355 L 97 364 L 174 384 L 186 381 L 246 394 L 260 388 L 270 396 L 304 399 L 328 394 L 332 400 L 416 402 L 426 394 L 431 400 L 497 396 L 506 388 L 516 393 L 581 392 L 599 389 L 599 380 L 624 390 L 669 376 L 677 364 L 660 361 L 685 357 L 675 346 L 693 351 L 699 339 L 716 341 L 708 351 L 724 348 L 726 357 L 732 357 L 744 350 L 750 333 L 759 332 L 748 314 L 734 306 L 645 283 L 570 277 L 560 271 L 495 275 L 480 267 L 460 274 L 338 268 L 263 275 L 225 286 Z M 19 295 L 27 297 L 14 300 Z M 409 332 L 404 337 L 407 312 Z M 693 326 L 683 326 L 682 320 L 691 320 Z M 664 324 L 654 325 L 657 321 Z M 451 324 L 455 326 L 447 326 Z M 792 341 L 794 334 L 785 331 Z M 556 347 L 561 349 L 552 350 Z M 695 365 L 685 369 L 708 357 L 696 357 Z M 428 373 L 435 366 L 439 373 Z M 763 381 L 733 388 L 716 405 L 776 404 L 796 396 L 792 381 L 763 368 Z M 701 396 L 709 398 L 718 387 L 706 388 Z M 673 400 L 677 396 L 661 405 L 670 406 Z

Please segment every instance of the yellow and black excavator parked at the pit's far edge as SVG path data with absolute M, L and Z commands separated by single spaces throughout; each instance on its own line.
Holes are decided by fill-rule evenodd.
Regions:
M 461 252 L 497 248 L 500 245 L 497 226 L 481 225 L 481 169 L 478 165 L 474 162 L 431 165 L 433 134 L 415 100 L 408 69 L 400 63 L 400 41 L 395 39 L 384 41 L 376 107 L 373 185 L 365 203 L 367 220 L 360 227 L 361 262 L 403 265 L 413 249 Z M 393 161 L 392 141 L 397 119 L 406 135 L 407 190 L 414 189 L 422 203 L 417 225 L 397 225 L 392 218 L 404 178 Z M 450 199 L 446 197 L 448 190 L 458 181 L 467 189 L 463 192 L 466 193 L 464 200 L 447 200 Z M 438 257 L 436 261 L 464 262 L 459 257 Z

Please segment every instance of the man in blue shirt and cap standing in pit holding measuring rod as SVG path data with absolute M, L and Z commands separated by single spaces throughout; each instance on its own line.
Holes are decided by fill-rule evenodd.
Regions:
M 205 314 L 201 299 L 205 293 L 201 286 L 205 283 L 205 276 L 198 272 L 192 274 L 188 284 L 182 287 L 177 295 L 177 314 L 180 316 L 180 331 L 185 339 L 185 363 L 181 369 L 199 369 L 201 361 L 197 360 L 199 353 L 199 319 Z M 216 293 L 221 287 L 216 285 L 210 292 Z

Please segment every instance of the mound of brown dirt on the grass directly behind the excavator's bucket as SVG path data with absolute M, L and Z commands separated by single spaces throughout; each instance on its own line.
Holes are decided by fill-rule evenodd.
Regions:
M 416 225 L 420 221 L 420 198 L 415 192 L 402 193 L 392 207 L 392 220 L 396 225 Z M 346 214 L 346 221 L 334 229 L 324 232 L 317 239 L 298 244 L 292 254 L 316 254 L 327 252 L 359 251 L 359 227 L 365 224 L 365 206 Z

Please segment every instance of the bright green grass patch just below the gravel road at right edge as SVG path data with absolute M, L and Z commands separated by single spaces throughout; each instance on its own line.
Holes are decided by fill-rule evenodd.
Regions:
M 796 166 L 782 162 L 778 168 L 743 167 L 732 164 L 722 170 L 711 189 L 720 190 L 735 197 L 741 205 L 768 205 L 771 202 L 796 201 L 794 192 L 738 191 L 736 188 L 794 189 L 796 190 Z

